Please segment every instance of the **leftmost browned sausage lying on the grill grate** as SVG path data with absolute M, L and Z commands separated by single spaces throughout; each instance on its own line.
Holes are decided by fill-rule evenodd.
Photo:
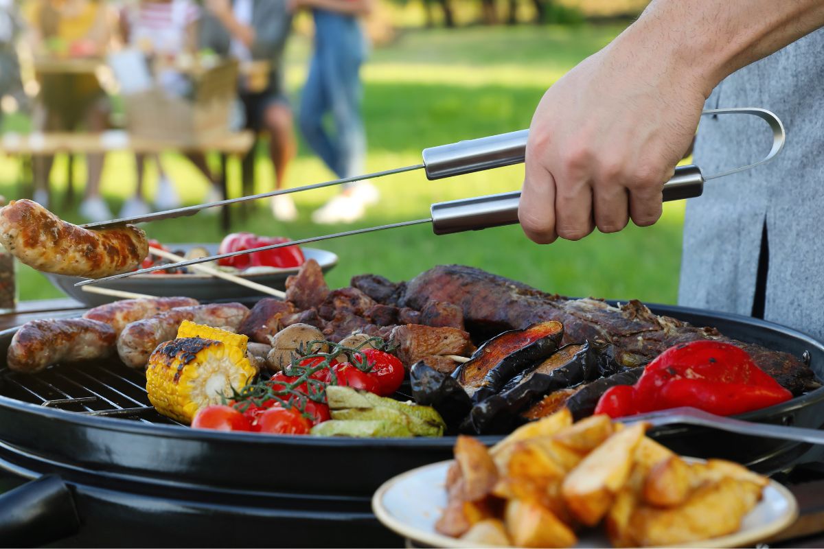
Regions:
M 115 330 L 90 319 L 32 320 L 8 347 L 8 367 L 34 374 L 59 362 L 88 361 L 114 354 Z

